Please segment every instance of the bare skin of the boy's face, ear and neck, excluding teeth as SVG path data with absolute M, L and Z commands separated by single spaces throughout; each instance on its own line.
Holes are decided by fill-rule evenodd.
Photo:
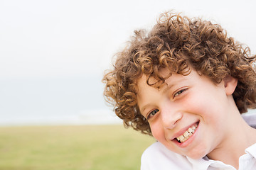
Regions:
M 233 100 L 236 79 L 213 84 L 193 69 L 187 76 L 172 74 L 160 89 L 147 85 L 146 79 L 143 75 L 138 80 L 137 101 L 156 140 L 178 154 L 193 159 L 207 155 L 238 168 L 239 157 L 256 142 L 256 130 L 245 123 Z M 178 143 L 175 138 L 191 125 L 198 125 L 196 132 Z

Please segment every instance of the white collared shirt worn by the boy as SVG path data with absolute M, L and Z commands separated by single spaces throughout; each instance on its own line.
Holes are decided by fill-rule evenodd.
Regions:
M 256 114 L 243 114 L 248 125 L 256 128 Z M 191 159 L 181 154 L 171 152 L 160 142 L 155 142 L 142 154 L 141 170 L 235 170 L 231 165 L 220 161 L 214 161 L 203 157 L 202 159 Z M 239 158 L 239 170 L 256 169 L 256 143 L 247 149 L 245 154 Z

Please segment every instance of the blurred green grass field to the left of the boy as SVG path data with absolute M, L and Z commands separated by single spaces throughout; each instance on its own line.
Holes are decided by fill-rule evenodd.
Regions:
M 134 170 L 154 141 L 122 125 L 1 127 L 0 170 Z

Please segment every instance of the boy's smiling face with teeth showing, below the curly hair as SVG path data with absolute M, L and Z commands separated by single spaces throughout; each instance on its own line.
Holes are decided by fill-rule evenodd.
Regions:
M 147 85 L 146 79 L 138 81 L 139 109 L 152 135 L 168 149 L 199 159 L 228 140 L 230 85 L 213 84 L 193 70 L 187 76 L 172 74 L 160 89 Z

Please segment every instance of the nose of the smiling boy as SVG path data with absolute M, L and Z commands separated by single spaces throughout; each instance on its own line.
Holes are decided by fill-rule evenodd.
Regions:
M 171 105 L 165 105 L 160 110 L 161 123 L 166 129 L 173 129 L 177 125 L 178 121 L 182 118 L 182 111 L 177 107 Z

